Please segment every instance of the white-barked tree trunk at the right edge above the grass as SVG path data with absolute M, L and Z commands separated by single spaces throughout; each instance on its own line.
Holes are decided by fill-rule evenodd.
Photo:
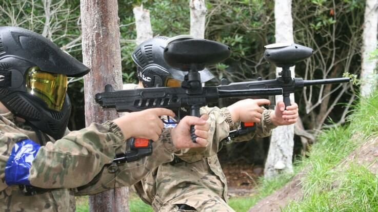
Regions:
M 377 48 L 377 25 L 378 25 L 378 1 L 367 0 L 364 16 L 364 32 L 362 34 L 362 64 L 361 64 L 361 95 L 369 96 L 376 88 L 378 79 L 375 68 L 376 59 L 371 59 L 370 54 Z

